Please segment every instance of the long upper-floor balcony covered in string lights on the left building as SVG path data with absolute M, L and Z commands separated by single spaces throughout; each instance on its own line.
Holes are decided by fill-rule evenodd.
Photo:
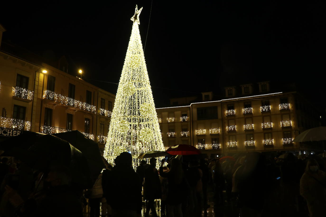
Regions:
M 44 90 L 43 99 L 53 100 L 54 102 L 59 102 L 64 105 L 69 105 L 96 114 L 96 106 L 87 104 L 86 102 L 81 102 L 79 100 L 66 97 L 59 93 L 55 93 L 51 90 Z

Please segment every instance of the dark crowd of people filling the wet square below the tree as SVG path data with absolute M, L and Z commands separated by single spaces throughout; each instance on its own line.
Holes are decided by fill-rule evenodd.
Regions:
M 132 163 L 131 154 L 121 153 L 91 189 L 81 191 L 71 185 L 67 167 L 43 173 L 3 157 L 0 216 L 81 217 L 87 204 L 91 217 L 141 216 L 143 206 L 145 217 L 202 216 L 208 194 L 215 211 L 231 210 L 225 216 L 326 216 L 325 162 L 317 155 L 151 158 L 136 171 Z

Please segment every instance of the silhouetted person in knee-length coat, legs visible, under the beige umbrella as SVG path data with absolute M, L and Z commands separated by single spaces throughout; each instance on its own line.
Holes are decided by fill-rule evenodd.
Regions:
M 150 166 L 145 169 L 145 199 L 147 200 L 145 217 L 149 216 L 149 211 L 152 210 L 152 214 L 157 216 L 154 207 L 154 200 L 161 198 L 161 183 L 156 170 L 156 158 L 149 160 Z

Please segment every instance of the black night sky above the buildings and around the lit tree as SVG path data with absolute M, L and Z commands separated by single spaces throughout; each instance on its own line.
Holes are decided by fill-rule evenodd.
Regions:
M 15 2 L 2 5 L 0 23 L 4 40 L 39 55 L 65 54 L 70 73 L 82 68 L 85 80 L 116 93 L 117 85 L 94 80 L 119 82 L 138 4 L 156 107 L 170 97 L 264 80 L 293 82 L 313 99 L 324 94 L 323 1 L 257 2 L 154 0 L 150 23 L 150 0 Z

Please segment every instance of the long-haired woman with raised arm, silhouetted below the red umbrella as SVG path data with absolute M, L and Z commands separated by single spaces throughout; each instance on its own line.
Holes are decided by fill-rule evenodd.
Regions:
M 169 172 L 163 172 L 164 162 L 164 160 L 161 161 L 160 176 L 168 178 L 167 215 L 168 217 L 182 217 L 181 204 L 186 198 L 189 184 L 185 179 L 179 159 L 171 160 Z

